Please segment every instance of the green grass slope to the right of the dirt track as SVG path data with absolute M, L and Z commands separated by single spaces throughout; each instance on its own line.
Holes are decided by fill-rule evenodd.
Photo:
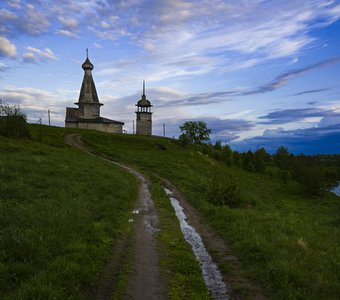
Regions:
M 171 139 L 90 132 L 84 139 L 115 160 L 170 180 L 272 299 L 338 299 L 340 201 L 335 195 L 306 197 L 294 184 L 228 168 Z M 204 198 L 200 187 L 217 172 L 238 181 L 239 208 L 213 206 Z

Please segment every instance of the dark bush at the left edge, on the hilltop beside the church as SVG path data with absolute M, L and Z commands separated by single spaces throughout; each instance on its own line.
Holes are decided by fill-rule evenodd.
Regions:
M 26 115 L 16 106 L 1 107 L 4 116 L 0 117 L 0 135 L 6 137 L 29 137 L 30 132 L 26 123 Z

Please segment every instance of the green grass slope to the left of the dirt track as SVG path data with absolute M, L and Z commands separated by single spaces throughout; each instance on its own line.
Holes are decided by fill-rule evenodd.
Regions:
M 65 145 L 69 130 L 30 130 L 0 137 L 0 298 L 81 299 L 129 231 L 138 182 Z

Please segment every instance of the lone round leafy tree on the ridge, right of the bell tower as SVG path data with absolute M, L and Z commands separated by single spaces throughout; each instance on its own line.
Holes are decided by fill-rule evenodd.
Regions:
M 210 140 L 211 129 L 203 121 L 187 121 L 179 128 L 182 133 L 179 139 L 184 143 L 201 144 Z

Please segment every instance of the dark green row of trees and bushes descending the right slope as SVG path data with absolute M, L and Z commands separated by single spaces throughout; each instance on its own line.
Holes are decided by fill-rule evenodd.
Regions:
M 284 184 L 295 182 L 306 194 L 319 195 L 340 179 L 340 155 L 294 155 L 284 146 L 272 155 L 264 148 L 241 153 L 233 151 L 229 145 L 222 146 L 221 141 L 211 144 L 211 130 L 205 122 L 185 122 L 180 129 L 182 146 L 194 144 L 204 154 L 229 167 L 267 174 Z

